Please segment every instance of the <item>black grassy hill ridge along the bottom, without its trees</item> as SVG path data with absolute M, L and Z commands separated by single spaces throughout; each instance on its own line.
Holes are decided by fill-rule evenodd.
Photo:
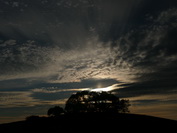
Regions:
M 176 131 L 177 121 L 136 114 L 76 113 L 1 124 L 1 133 Z

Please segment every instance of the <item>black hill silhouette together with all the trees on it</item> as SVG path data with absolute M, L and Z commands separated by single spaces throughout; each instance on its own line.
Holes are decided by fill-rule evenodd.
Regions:
M 175 131 L 177 121 L 129 114 L 129 100 L 107 92 L 82 91 L 71 95 L 65 109 L 55 106 L 49 117 L 30 116 L 25 121 L 1 124 L 0 132 L 152 132 Z

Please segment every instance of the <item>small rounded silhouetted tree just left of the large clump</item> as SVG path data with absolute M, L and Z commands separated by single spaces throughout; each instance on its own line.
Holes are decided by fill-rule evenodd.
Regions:
M 64 112 L 65 111 L 63 110 L 63 108 L 61 108 L 60 106 L 55 106 L 48 110 L 47 115 L 52 117 L 57 117 L 63 114 Z

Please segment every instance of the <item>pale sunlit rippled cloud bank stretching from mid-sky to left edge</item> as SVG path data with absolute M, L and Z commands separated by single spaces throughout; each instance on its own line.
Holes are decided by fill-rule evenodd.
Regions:
M 64 50 L 58 46 L 39 46 L 28 40 L 1 49 L 1 79 L 41 78 L 53 82 L 75 82 L 88 78 L 125 79 L 117 71 L 109 43 L 103 46 L 97 37 L 85 42 L 85 47 Z M 121 62 L 120 62 L 121 63 Z M 126 65 L 126 64 L 125 64 Z M 122 72 L 123 73 L 123 72 Z

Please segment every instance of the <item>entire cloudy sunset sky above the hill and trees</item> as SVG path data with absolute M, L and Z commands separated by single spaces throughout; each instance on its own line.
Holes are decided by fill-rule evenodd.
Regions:
M 0 0 L 0 123 L 78 91 L 177 120 L 176 0 Z

